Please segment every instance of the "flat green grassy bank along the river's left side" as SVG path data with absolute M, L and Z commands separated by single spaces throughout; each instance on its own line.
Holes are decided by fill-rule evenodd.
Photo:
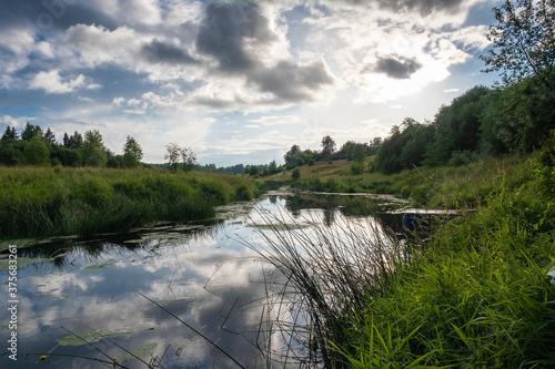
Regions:
M 259 192 L 244 176 L 63 167 L 0 167 L 0 188 L 3 239 L 206 219 L 215 206 Z

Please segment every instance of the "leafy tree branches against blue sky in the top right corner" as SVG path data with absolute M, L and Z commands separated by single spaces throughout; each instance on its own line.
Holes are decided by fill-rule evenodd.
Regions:
M 490 27 L 493 49 L 481 57 L 484 71 L 501 71 L 507 85 L 536 75 L 555 91 L 555 1 L 505 0 L 493 11 L 497 24 Z

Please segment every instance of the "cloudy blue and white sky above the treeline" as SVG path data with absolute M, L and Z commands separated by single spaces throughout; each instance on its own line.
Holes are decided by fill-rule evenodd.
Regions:
M 485 0 L 1 0 L 0 130 L 99 130 L 143 162 L 283 162 L 492 85 Z

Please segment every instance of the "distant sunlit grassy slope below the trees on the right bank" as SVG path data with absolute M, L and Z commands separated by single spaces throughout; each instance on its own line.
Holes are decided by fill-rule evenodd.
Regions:
M 430 208 L 474 207 L 502 188 L 514 189 L 529 181 L 533 173 L 528 160 L 527 156 L 490 157 L 457 167 L 422 167 L 393 175 L 352 175 L 347 161 L 321 162 L 300 167 L 301 178 L 297 181 L 291 178 L 291 171 L 270 176 L 266 181 L 310 191 L 398 195 Z M 372 158 L 367 158 L 365 166 L 371 162 Z

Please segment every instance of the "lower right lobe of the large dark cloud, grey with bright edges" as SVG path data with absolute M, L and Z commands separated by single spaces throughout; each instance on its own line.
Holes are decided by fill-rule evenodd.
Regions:
M 323 88 L 334 83 L 323 61 L 296 65 L 289 61 L 262 69 L 250 76 L 250 82 L 264 92 L 273 93 L 279 101 L 313 101 Z

